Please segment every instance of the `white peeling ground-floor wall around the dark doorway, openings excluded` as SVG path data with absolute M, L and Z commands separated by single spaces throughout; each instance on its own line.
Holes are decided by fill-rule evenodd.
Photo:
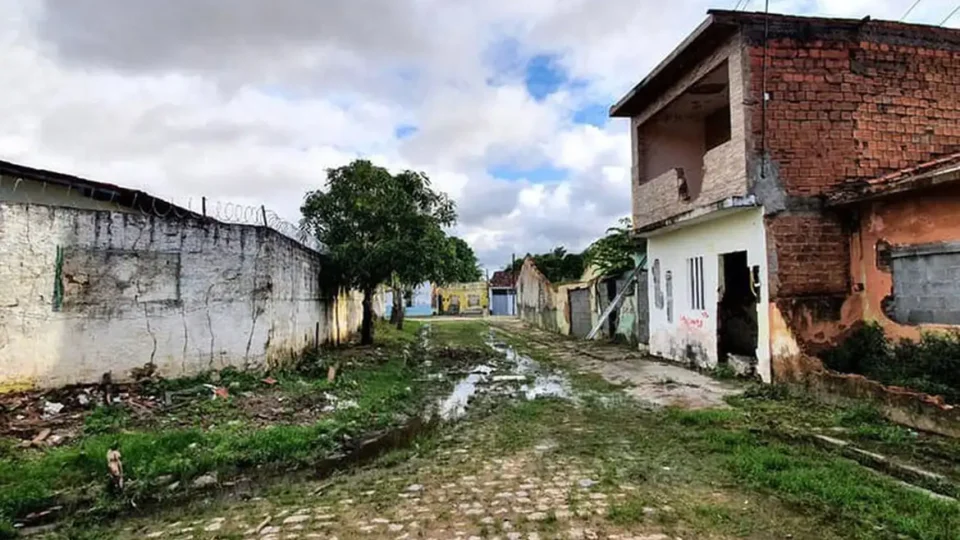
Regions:
M 768 310 L 764 308 L 769 301 L 767 252 L 763 210 L 759 208 L 741 210 L 647 239 L 647 260 L 654 272 L 647 291 L 651 306 L 650 352 L 704 368 L 717 365 L 719 257 L 735 251 L 746 251 L 748 266 L 759 270 L 757 371 L 764 381 L 769 381 L 770 324 Z M 692 307 L 687 264 L 692 257 L 703 257 L 703 309 Z M 657 290 L 658 272 L 671 276 L 672 285 L 665 286 L 666 294 Z

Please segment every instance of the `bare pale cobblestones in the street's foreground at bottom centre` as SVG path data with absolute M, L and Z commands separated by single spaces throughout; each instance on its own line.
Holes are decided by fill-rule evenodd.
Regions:
M 544 443 L 532 452 L 472 464 L 470 448 L 444 450 L 415 475 L 378 479 L 318 506 L 255 504 L 203 520 L 158 524 L 147 538 L 668 538 L 630 533 L 604 519 L 611 502 L 635 486 L 603 487 L 598 471 L 553 455 Z M 456 474 L 464 468 L 470 474 Z M 406 482 L 422 480 L 423 483 Z M 262 502 L 262 501 L 255 501 Z M 264 510 L 266 508 L 266 510 Z M 653 514 L 670 509 L 647 508 Z M 132 531 L 129 531 L 132 532 Z M 139 535 L 139 533 L 138 533 Z

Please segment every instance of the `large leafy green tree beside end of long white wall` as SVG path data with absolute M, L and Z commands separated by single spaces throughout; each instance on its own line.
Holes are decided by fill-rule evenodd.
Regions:
M 325 190 L 307 193 L 302 225 L 328 250 L 328 284 L 363 293 L 361 343 L 373 343 L 373 294 L 393 278 L 420 282 L 438 274 L 443 227 L 453 202 L 423 173 L 392 175 L 367 160 L 329 169 Z

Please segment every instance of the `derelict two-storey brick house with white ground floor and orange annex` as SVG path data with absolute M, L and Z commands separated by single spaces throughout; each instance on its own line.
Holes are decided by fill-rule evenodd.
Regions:
M 711 11 L 610 113 L 654 354 L 785 380 L 858 321 L 960 324 L 960 31 Z

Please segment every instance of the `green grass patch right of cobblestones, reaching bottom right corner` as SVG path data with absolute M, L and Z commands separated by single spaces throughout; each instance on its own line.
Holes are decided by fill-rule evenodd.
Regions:
M 777 520 L 789 514 L 792 526 L 806 527 L 808 537 L 874 538 L 885 531 L 957 538 L 957 505 L 903 489 L 819 448 L 781 443 L 766 436 L 757 420 L 743 409 L 650 412 L 624 401 L 580 408 L 536 401 L 499 413 L 491 440 L 499 451 L 556 440 L 559 452 L 598 463 L 614 483 L 636 483 L 636 499 L 610 508 L 608 517 L 618 524 L 643 521 L 643 507 L 656 506 L 649 498 L 669 493 L 680 499 L 679 518 L 701 532 L 773 534 L 781 530 Z M 740 493 L 734 500 L 749 498 L 772 510 L 705 506 L 686 494 L 711 485 L 733 486 Z M 824 521 L 831 523 L 826 532 Z

